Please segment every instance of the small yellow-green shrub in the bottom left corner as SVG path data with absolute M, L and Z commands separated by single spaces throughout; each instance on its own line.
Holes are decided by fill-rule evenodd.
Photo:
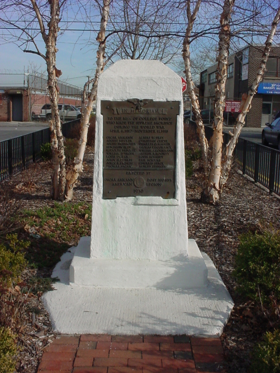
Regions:
M 16 338 L 10 329 L 0 327 L 0 367 L 1 373 L 15 371 Z

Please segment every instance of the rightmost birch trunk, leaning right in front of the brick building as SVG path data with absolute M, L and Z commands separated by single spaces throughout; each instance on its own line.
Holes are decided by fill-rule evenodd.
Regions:
M 246 114 L 250 110 L 252 99 L 253 99 L 254 95 L 256 94 L 256 92 L 258 90 L 259 83 L 263 79 L 265 66 L 266 66 L 266 63 L 267 63 L 267 60 L 268 60 L 268 55 L 270 53 L 273 37 L 276 33 L 276 28 L 277 28 L 277 25 L 279 23 L 279 19 L 280 19 L 280 8 L 278 9 L 278 12 L 277 12 L 277 14 L 276 14 L 276 16 L 273 20 L 273 23 L 271 25 L 270 34 L 268 35 L 267 40 L 265 42 L 264 53 L 262 54 L 262 60 L 261 60 L 261 63 L 259 65 L 257 76 L 256 76 L 255 80 L 253 81 L 253 84 L 252 84 L 252 86 L 249 90 L 246 101 L 242 105 L 241 113 L 239 114 L 239 116 L 237 118 L 237 122 L 234 125 L 233 136 L 231 137 L 230 141 L 228 142 L 228 144 L 225 147 L 225 154 L 224 154 L 224 159 L 223 159 L 223 162 L 222 162 L 221 179 L 220 179 L 220 188 L 221 189 L 223 188 L 223 185 L 225 184 L 225 182 L 228 179 L 228 174 L 230 172 L 231 164 L 232 164 L 233 151 L 234 151 L 234 148 L 236 146 L 236 142 L 237 142 L 237 139 L 240 135 L 240 132 L 241 132 L 241 130 L 242 130 L 244 124 L 245 124 Z

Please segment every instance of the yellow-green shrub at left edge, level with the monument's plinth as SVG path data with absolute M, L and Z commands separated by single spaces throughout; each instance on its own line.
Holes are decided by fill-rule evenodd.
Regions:
M 10 244 L 6 247 L 0 244 L 0 283 L 7 286 L 18 280 L 27 266 L 27 260 L 21 252 L 29 246 L 30 242 L 19 241 L 16 234 L 8 235 Z

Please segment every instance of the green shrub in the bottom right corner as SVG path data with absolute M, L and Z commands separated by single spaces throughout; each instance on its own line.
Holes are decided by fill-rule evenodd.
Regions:
M 280 333 L 265 333 L 264 340 L 252 353 L 252 373 L 280 373 Z

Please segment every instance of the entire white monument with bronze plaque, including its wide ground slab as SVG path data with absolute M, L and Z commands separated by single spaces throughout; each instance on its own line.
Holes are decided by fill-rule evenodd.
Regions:
M 91 237 L 63 254 L 42 297 L 53 330 L 221 334 L 233 301 L 187 234 L 180 77 L 116 62 L 96 107 Z

